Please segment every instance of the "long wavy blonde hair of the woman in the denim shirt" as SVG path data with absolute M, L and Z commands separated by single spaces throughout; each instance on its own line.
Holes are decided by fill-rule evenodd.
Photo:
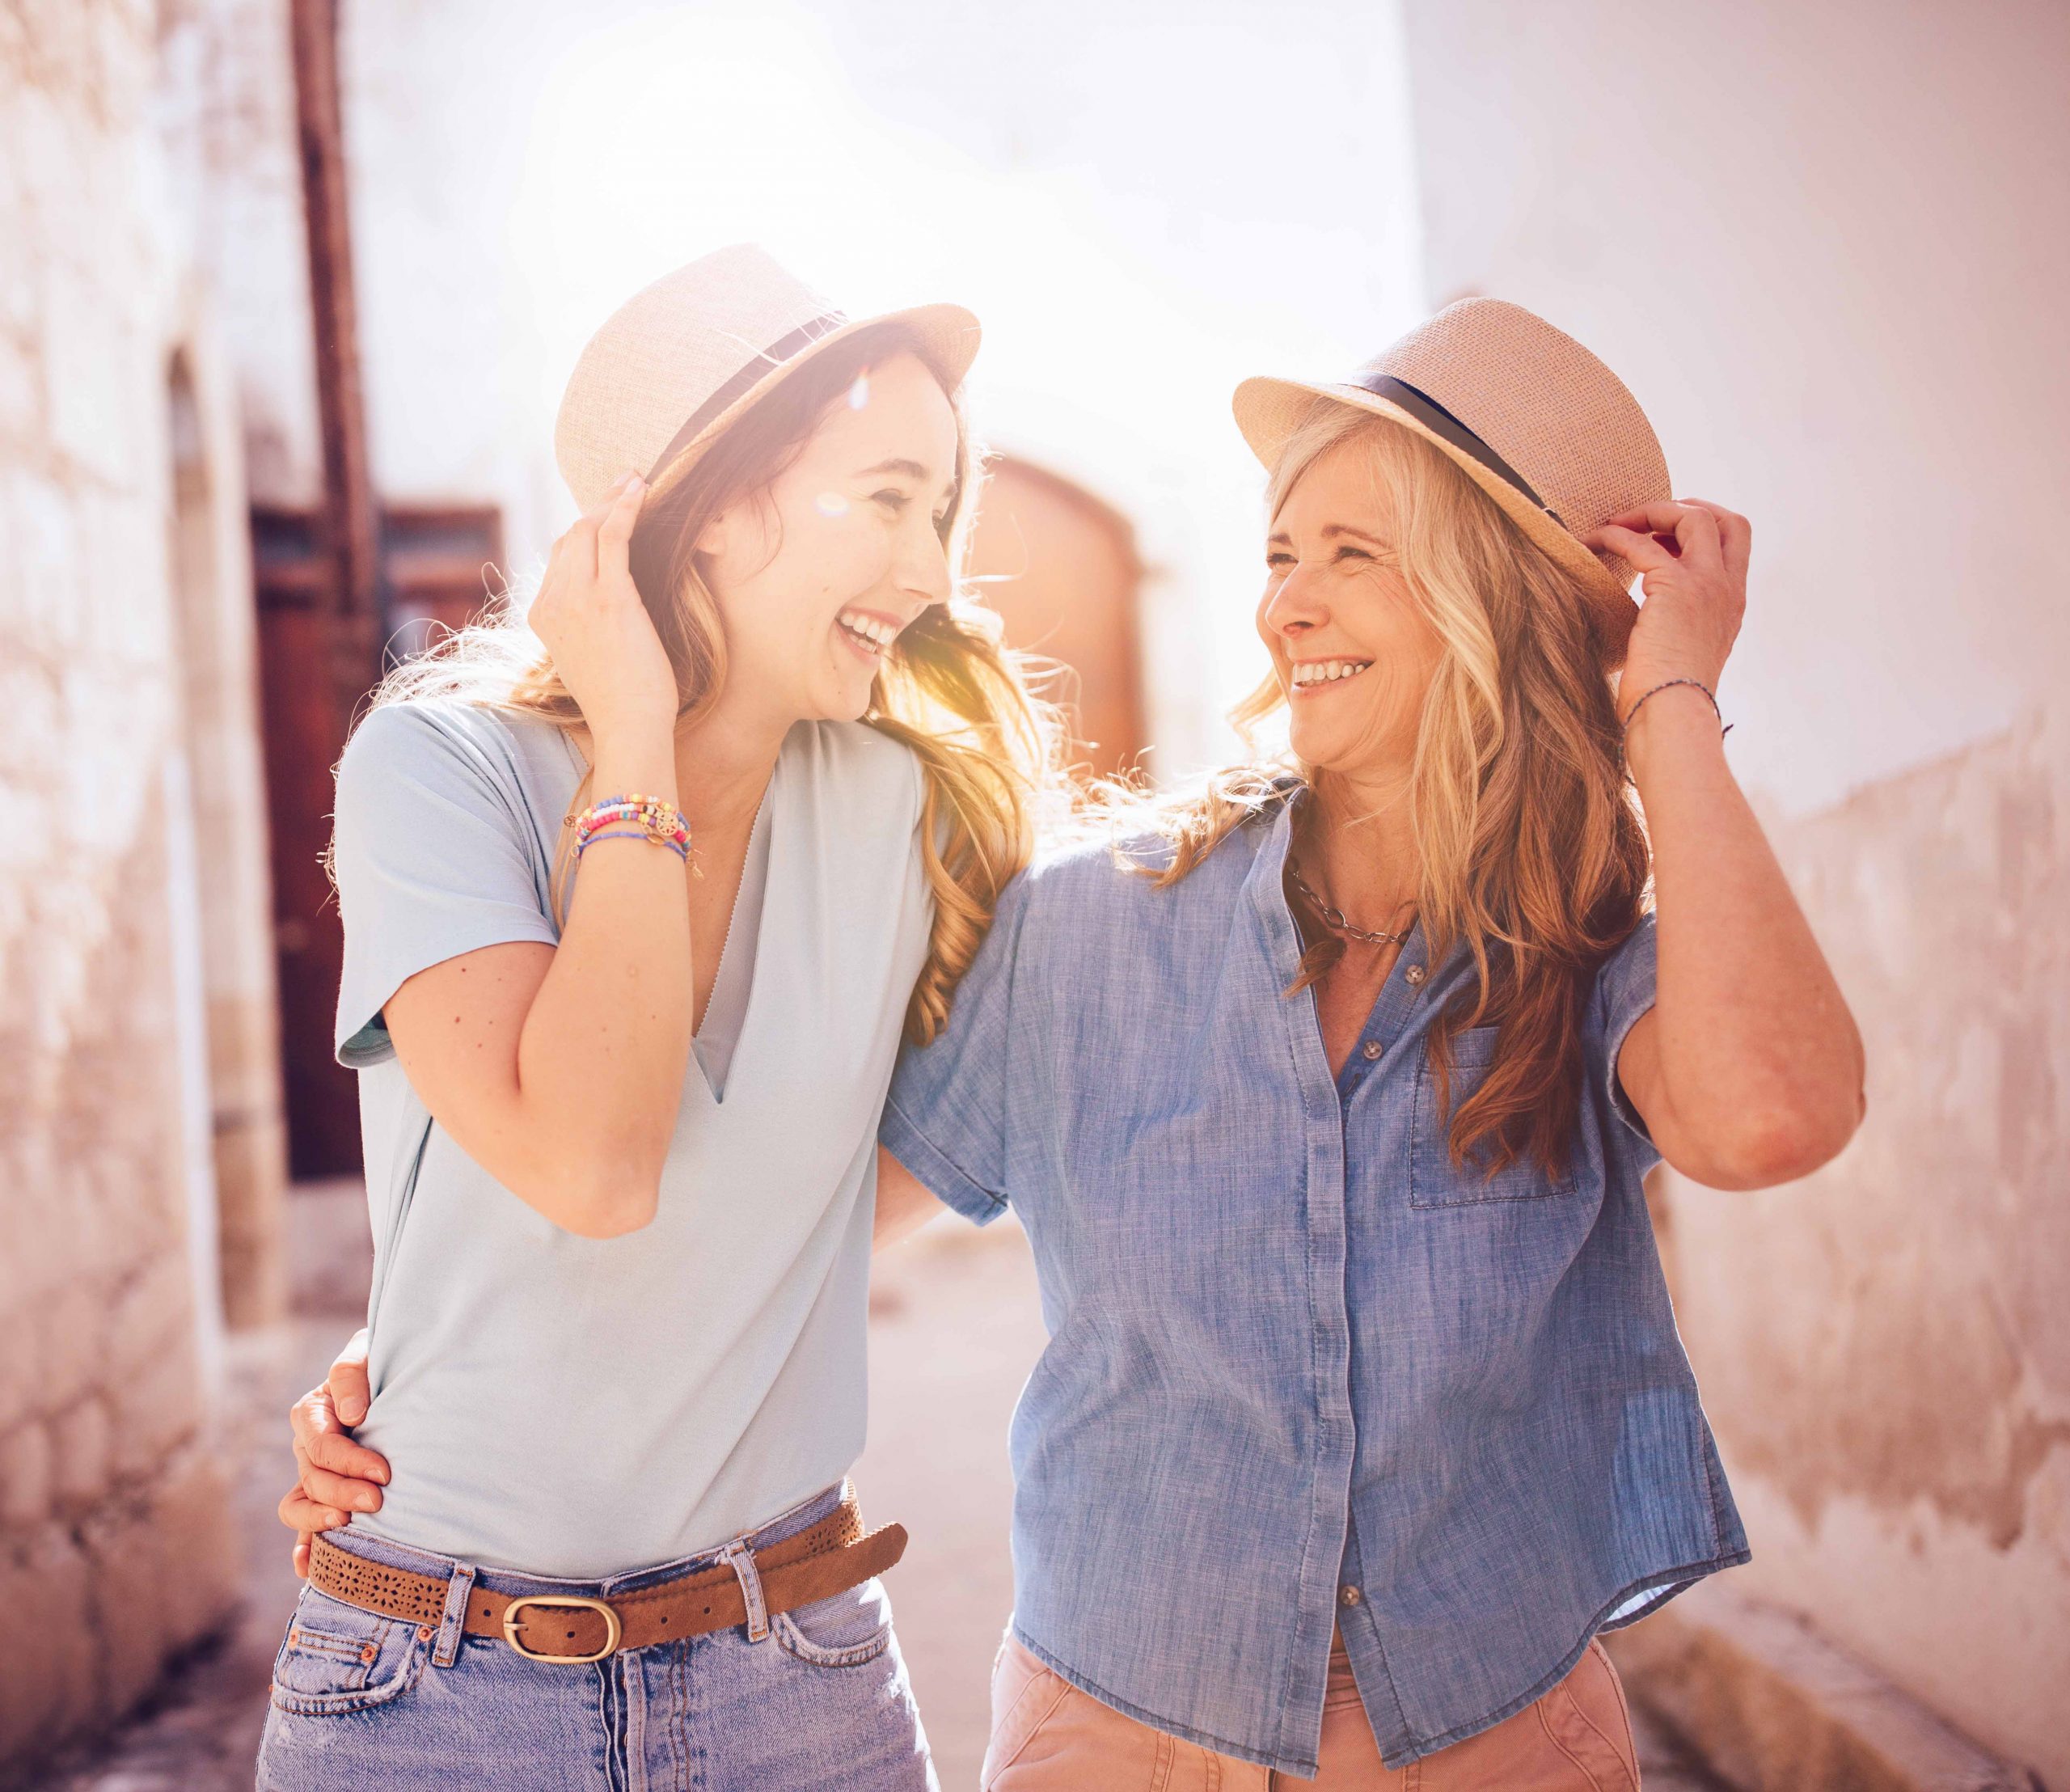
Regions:
M 1488 1175 L 1526 1157 L 1559 1175 L 1584 1088 L 1581 1014 L 1602 960 L 1639 925 L 1650 882 L 1646 830 L 1619 764 L 1608 644 L 1573 575 L 1449 455 L 1387 418 L 1319 399 L 1271 470 L 1271 515 L 1321 455 L 1348 445 L 1368 457 L 1377 492 L 1391 501 L 1403 579 L 1443 641 L 1410 807 L 1430 962 L 1466 939 L 1476 970 L 1430 1028 L 1451 1155 Z M 1143 867 L 1159 886 L 1319 782 L 1292 755 L 1256 751 L 1259 726 L 1283 704 L 1277 675 L 1267 675 L 1232 712 L 1252 759 L 1203 790 L 1161 803 L 1105 793 L 1110 811 L 1170 842 L 1165 863 Z M 1343 956 L 1343 942 L 1298 890 L 1290 902 L 1317 942 L 1294 995 Z M 1453 1041 L 1468 1026 L 1497 1028 L 1495 1057 L 1453 1111 Z

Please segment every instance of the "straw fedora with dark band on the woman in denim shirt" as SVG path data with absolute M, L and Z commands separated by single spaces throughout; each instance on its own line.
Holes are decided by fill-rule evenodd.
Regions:
M 1246 379 L 1236 424 L 1271 468 L 1319 399 L 1393 418 L 1451 455 L 1581 581 L 1608 664 L 1623 660 L 1635 573 L 1579 538 L 1673 486 L 1646 412 L 1610 368 L 1521 304 L 1461 298 L 1346 381 Z

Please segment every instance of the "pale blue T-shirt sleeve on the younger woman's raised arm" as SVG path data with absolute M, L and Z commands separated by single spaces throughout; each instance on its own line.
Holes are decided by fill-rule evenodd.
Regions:
M 337 766 L 333 869 L 346 923 L 337 1062 L 395 1053 L 381 1006 L 418 970 L 559 935 L 515 776 L 422 704 L 375 710 Z

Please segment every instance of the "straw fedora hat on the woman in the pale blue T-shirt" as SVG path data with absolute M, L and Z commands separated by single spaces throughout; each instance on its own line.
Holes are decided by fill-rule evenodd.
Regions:
M 753 242 L 714 248 L 635 292 L 588 339 L 561 395 L 553 457 L 584 511 L 621 474 L 656 492 L 785 375 L 874 323 L 903 323 L 950 387 L 977 354 L 977 319 L 923 304 L 847 319 Z

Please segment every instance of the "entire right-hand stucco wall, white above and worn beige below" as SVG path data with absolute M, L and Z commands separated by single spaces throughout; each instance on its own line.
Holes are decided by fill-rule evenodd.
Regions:
M 1408 0 L 1430 298 L 1747 511 L 1731 755 L 1861 1018 L 1803 1186 L 1666 1179 L 1737 1581 L 2070 1784 L 2070 10 Z

